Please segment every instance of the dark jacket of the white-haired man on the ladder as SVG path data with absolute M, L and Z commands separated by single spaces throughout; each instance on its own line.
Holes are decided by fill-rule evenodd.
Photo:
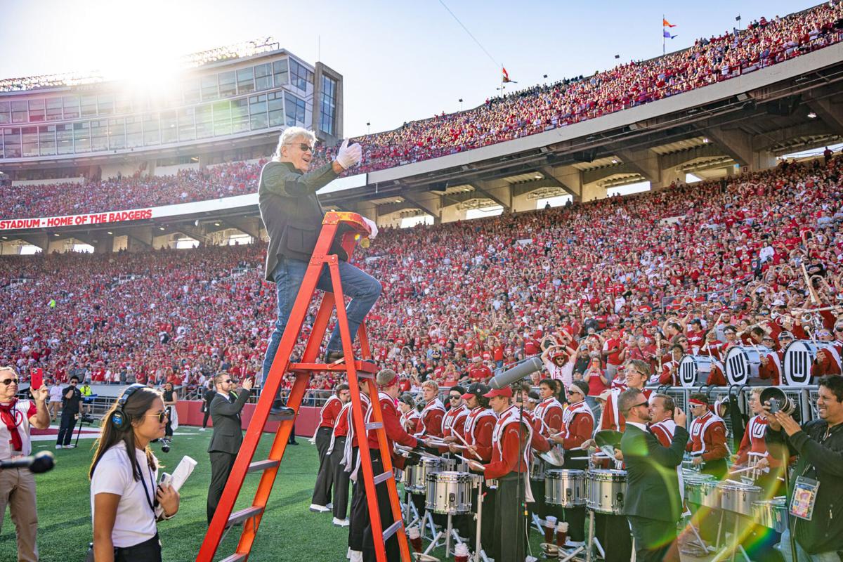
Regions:
M 310 260 L 325 214 L 316 191 L 335 178 L 331 163 L 307 174 L 288 162 L 268 162 L 260 171 L 258 206 L 269 234 L 266 281 L 275 281 L 273 274 L 281 257 Z M 331 253 L 338 254 L 341 260 L 348 259 L 339 244 L 331 248 Z

